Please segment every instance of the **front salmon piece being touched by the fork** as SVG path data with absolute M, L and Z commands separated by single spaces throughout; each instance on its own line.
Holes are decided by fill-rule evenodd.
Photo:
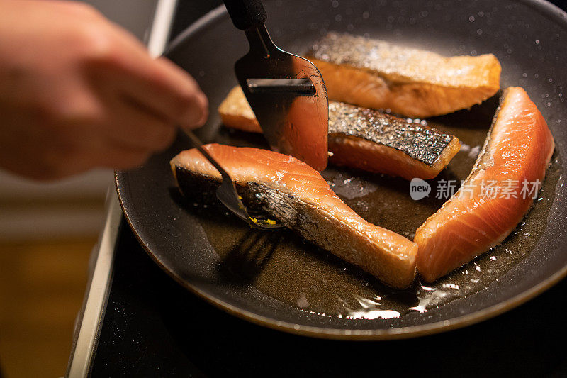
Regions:
M 237 183 L 247 206 L 262 209 L 303 238 L 357 265 L 395 288 L 415 277 L 417 245 L 364 221 L 344 204 L 321 175 L 295 157 L 257 148 L 203 146 Z M 196 149 L 171 162 L 186 196 L 214 193 L 220 174 Z

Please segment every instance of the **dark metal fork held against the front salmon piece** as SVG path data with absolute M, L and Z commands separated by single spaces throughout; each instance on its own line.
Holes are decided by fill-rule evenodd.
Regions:
M 201 152 L 204 157 L 206 157 L 210 164 L 212 164 L 218 170 L 218 172 L 220 172 L 220 176 L 223 178 L 223 181 L 220 183 L 220 187 L 218 187 L 216 194 L 218 200 L 222 202 L 223 205 L 227 207 L 227 209 L 232 211 L 235 216 L 242 219 L 243 221 L 246 221 L 250 226 L 253 226 L 255 228 L 261 228 L 263 230 L 274 230 L 276 228 L 284 227 L 283 224 L 271 221 L 266 216 L 254 216 L 254 218 L 252 218 L 249 215 L 246 206 L 242 204 L 242 201 L 240 200 L 241 197 L 236 191 L 235 182 L 232 181 L 230 174 L 228 174 L 228 172 L 226 172 L 225 169 L 221 167 L 220 164 L 218 164 L 218 162 L 212 156 L 209 155 L 209 153 L 202 147 L 203 143 L 201 143 L 201 140 L 198 140 L 198 138 L 195 134 L 193 134 L 192 131 L 184 131 L 189 137 L 189 140 L 191 140 L 191 143 L 193 143 L 193 146 L 195 146 L 195 148 L 199 152 Z

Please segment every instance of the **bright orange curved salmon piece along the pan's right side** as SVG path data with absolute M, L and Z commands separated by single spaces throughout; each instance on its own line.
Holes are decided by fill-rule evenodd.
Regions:
M 532 206 L 554 148 L 526 91 L 508 88 L 471 174 L 415 233 L 417 270 L 427 282 L 503 242 Z

